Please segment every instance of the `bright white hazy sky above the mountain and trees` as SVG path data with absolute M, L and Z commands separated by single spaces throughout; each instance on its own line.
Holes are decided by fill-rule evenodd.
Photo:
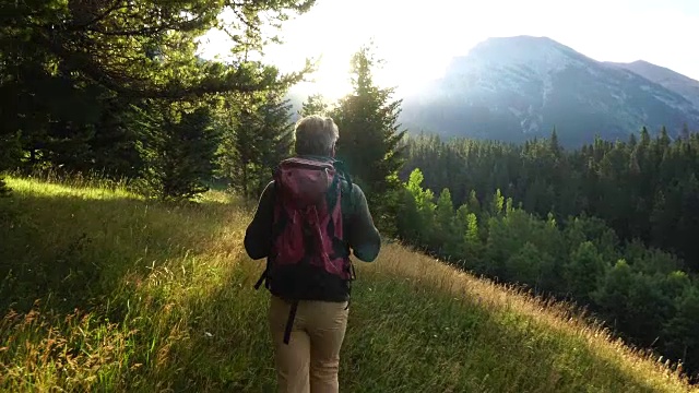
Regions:
M 453 56 L 488 37 L 547 36 L 595 60 L 643 59 L 699 80 L 699 0 L 318 0 L 286 22 L 268 49 L 283 70 L 323 55 L 318 88 L 348 88 L 348 59 L 374 37 L 381 84 L 404 90 L 437 78 Z M 208 52 L 225 50 L 215 38 Z

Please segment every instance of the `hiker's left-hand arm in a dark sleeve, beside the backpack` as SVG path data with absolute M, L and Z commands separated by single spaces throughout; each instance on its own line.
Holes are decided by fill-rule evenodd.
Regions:
M 254 217 L 245 231 L 245 250 L 253 260 L 265 258 L 272 248 L 272 224 L 274 221 L 274 182 L 262 191 Z

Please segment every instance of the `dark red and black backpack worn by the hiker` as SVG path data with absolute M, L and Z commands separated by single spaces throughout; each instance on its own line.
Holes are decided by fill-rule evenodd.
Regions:
M 339 160 L 293 157 L 274 174 L 275 203 L 272 248 L 268 265 L 256 284 L 292 300 L 285 343 L 288 343 L 298 300 L 318 299 L 323 282 L 354 279 L 350 249 L 344 240 L 343 184 L 352 180 Z M 351 192 L 348 193 L 352 194 Z M 315 294 L 309 294 L 316 290 Z M 310 296 L 310 297 L 309 297 Z

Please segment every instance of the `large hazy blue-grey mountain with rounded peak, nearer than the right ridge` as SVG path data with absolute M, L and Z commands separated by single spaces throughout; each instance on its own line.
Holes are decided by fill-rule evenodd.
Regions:
M 640 67 L 600 62 L 547 37 L 489 38 L 404 97 L 401 121 L 413 131 L 508 142 L 555 128 L 568 146 L 595 134 L 626 140 L 643 126 L 651 133 L 665 126 L 671 135 L 684 123 L 699 128 L 699 104 L 679 93 L 679 74 L 649 79 L 632 68 Z

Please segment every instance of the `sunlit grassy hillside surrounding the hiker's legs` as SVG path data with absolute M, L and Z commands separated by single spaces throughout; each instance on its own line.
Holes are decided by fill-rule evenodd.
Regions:
M 275 391 L 269 294 L 252 288 L 262 263 L 242 249 L 249 206 L 221 192 L 177 206 L 119 187 L 9 184 L 0 389 Z M 342 391 L 690 391 L 565 306 L 400 246 L 357 272 Z

